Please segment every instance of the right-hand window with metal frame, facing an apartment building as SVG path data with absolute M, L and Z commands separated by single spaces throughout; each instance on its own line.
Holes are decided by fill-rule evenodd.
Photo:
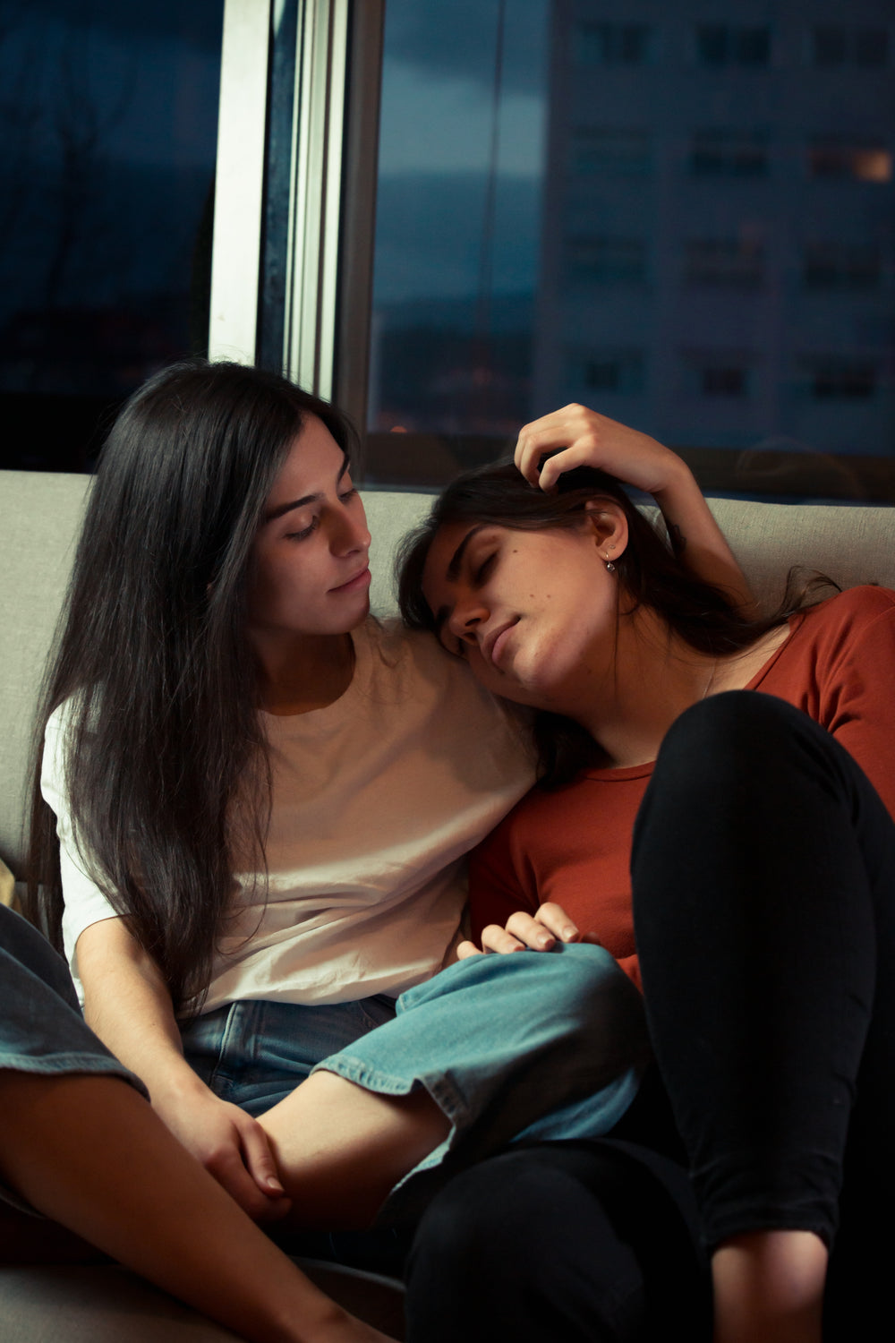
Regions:
M 368 482 L 439 483 L 577 399 L 687 445 L 721 489 L 737 453 L 794 438 L 895 498 L 895 125 L 861 77 L 888 50 L 879 0 L 827 7 L 833 63 L 804 78 L 769 7 L 235 5 L 270 8 L 264 181 L 291 193 L 260 215 L 246 313 L 366 428 Z M 793 5 L 813 66 L 820 9 Z M 659 63 L 682 38 L 694 59 Z

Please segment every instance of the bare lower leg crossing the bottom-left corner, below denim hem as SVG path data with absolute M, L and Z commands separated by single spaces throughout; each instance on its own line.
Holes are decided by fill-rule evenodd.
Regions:
M 255 1343 L 388 1343 L 330 1301 L 125 1081 L 0 1070 L 0 1175 Z

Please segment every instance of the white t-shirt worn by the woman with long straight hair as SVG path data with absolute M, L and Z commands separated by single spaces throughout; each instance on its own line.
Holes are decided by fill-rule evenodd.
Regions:
M 397 995 L 441 967 L 466 900 L 463 855 L 531 786 L 518 724 L 431 635 L 370 620 L 325 709 L 264 714 L 272 813 L 264 884 L 236 874 L 235 916 L 203 1011 L 242 998 L 333 1003 Z M 75 948 L 114 909 L 83 872 L 63 780 L 64 705 L 47 724 L 42 791 L 56 814 Z

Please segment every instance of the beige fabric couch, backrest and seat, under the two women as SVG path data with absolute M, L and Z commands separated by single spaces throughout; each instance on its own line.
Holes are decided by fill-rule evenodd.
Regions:
M 52 629 L 62 604 L 89 481 L 79 475 L 0 471 L 0 858 L 21 868 L 23 810 L 32 714 Z M 373 532 L 373 606 L 393 608 L 392 555 L 427 510 L 412 493 L 365 496 Z M 895 509 L 784 506 L 721 500 L 717 516 L 757 592 L 772 602 L 793 564 L 844 587 L 895 587 Z M 327 1289 L 358 1313 L 397 1334 L 400 1299 L 381 1280 L 338 1275 Z M 113 1266 L 0 1266 L 0 1336 L 21 1343 L 164 1338 L 169 1343 L 231 1338 L 162 1293 Z

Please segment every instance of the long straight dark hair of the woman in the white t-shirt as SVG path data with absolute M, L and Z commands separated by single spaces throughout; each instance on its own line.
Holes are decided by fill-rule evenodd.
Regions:
M 205 991 L 235 861 L 266 872 L 270 772 L 246 638 L 264 500 L 315 396 L 239 364 L 150 379 L 103 449 L 48 669 L 82 861 L 153 956 L 176 1007 Z M 60 943 L 52 813 L 35 751 L 28 913 Z

